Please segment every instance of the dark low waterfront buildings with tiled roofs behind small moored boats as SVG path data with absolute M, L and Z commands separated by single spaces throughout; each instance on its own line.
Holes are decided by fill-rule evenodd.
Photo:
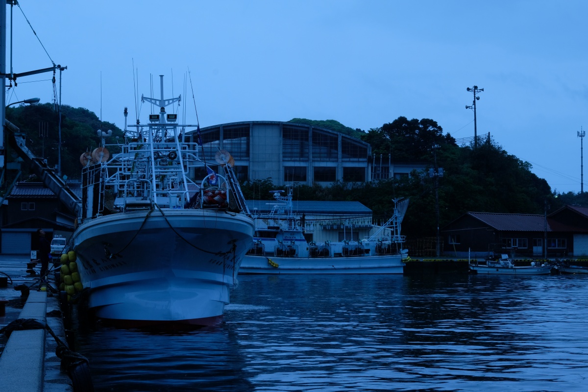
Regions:
M 442 228 L 445 252 L 516 257 L 588 255 L 588 209 L 564 206 L 550 215 L 467 212 Z

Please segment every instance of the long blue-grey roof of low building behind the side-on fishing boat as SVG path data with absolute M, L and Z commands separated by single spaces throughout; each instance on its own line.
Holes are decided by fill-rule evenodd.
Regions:
M 259 212 L 270 212 L 276 200 L 246 200 L 249 210 L 256 208 Z M 292 210 L 296 214 L 361 214 L 372 215 L 372 210 L 360 202 L 316 202 L 312 200 L 295 200 Z

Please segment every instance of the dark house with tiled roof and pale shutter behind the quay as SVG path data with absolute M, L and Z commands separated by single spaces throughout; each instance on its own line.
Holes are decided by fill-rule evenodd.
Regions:
M 81 194 L 79 184 L 70 188 Z M 2 202 L 2 254 L 27 254 L 38 248 L 36 230 L 69 237 L 75 216 L 40 182 L 17 182 Z

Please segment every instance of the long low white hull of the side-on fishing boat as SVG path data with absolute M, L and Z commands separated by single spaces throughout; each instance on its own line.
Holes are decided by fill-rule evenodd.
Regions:
M 269 263 L 278 264 L 278 267 Z M 240 274 L 402 274 L 402 255 L 276 257 L 246 254 Z

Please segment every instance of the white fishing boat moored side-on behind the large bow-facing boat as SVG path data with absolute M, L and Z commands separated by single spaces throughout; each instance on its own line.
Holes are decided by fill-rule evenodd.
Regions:
M 292 212 L 292 187 L 273 191 L 278 201 L 268 215 L 256 216 L 256 236 L 243 257 L 242 274 L 402 274 L 407 250 L 400 223 L 408 200 L 398 205 L 384 225 L 361 241 L 308 242 Z

